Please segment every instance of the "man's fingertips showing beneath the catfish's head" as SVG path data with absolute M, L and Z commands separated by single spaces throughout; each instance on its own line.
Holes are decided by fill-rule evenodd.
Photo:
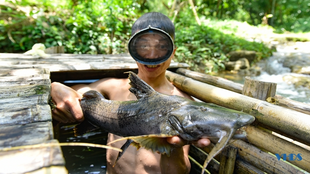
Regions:
M 208 138 L 201 138 L 199 140 L 189 142 L 189 141 L 184 140 L 183 138 L 174 136 L 174 137 L 167 138 L 167 142 L 175 146 L 178 146 L 178 147 L 182 147 L 188 144 L 192 144 L 196 147 L 206 147 L 210 145 L 210 140 Z

